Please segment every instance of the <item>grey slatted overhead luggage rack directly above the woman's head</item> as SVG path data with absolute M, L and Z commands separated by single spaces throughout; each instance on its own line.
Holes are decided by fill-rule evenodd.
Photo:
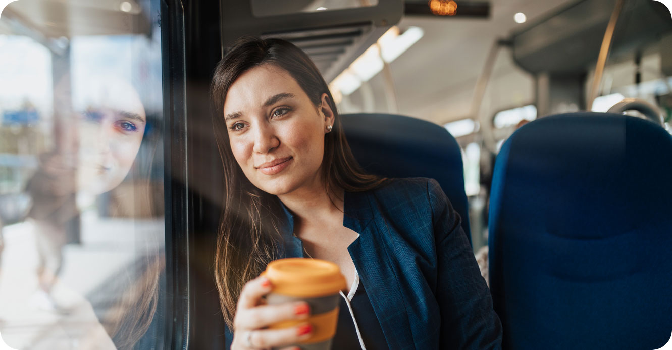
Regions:
M 374 44 L 403 15 L 403 1 L 377 5 L 257 17 L 250 3 L 234 2 L 222 10 L 222 50 L 243 35 L 292 42 L 332 81 Z M 222 7 L 223 9 L 223 7 Z

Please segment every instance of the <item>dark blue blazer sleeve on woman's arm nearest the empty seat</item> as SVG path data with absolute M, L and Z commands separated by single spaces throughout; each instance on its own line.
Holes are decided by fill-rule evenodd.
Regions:
M 439 349 L 501 349 L 502 326 L 462 226 L 437 181 L 427 182 L 437 255 Z

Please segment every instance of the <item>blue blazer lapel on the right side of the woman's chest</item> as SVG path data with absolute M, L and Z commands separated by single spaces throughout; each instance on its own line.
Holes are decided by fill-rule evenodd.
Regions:
M 343 226 L 360 234 L 347 250 L 366 286 L 388 347 L 412 348 L 409 315 L 390 263 L 390 255 L 394 256 L 392 242 L 388 232 L 381 231 L 386 228 L 379 227 L 384 226 L 379 225 L 383 219 L 374 214 L 373 206 L 368 193 L 345 193 Z

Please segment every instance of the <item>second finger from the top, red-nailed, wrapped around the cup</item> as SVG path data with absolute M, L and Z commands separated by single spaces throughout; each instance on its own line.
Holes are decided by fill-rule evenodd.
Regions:
M 284 320 L 304 320 L 310 316 L 307 302 L 286 302 L 239 310 L 237 329 L 260 329 Z

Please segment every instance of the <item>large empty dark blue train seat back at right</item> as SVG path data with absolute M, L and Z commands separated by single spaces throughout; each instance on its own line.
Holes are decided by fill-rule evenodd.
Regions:
M 672 137 L 619 114 L 503 144 L 489 213 L 504 349 L 659 349 L 672 333 Z

